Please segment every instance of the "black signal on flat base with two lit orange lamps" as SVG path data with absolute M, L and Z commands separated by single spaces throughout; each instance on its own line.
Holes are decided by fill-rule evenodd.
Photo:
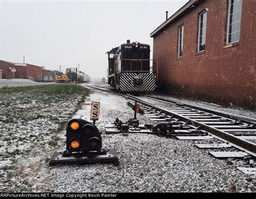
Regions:
M 102 149 L 102 137 L 96 125 L 86 120 L 72 119 L 66 127 L 66 150 L 53 153 L 49 164 L 102 162 L 118 164 L 116 151 Z

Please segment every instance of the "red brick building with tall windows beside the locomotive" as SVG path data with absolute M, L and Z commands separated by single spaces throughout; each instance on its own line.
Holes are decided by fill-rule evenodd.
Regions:
M 171 94 L 256 108 L 256 1 L 190 0 L 151 33 Z

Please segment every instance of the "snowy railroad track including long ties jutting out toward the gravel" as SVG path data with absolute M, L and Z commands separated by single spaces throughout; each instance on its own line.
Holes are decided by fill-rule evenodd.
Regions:
M 142 94 L 135 97 L 130 94 L 116 93 L 110 88 L 90 86 L 102 91 L 115 93 L 127 99 L 137 101 L 144 109 L 146 117 L 156 122 L 173 123 L 177 139 L 207 140 L 215 138 L 219 143 L 212 145 L 197 145 L 199 148 L 220 148 L 212 152 L 215 157 L 256 157 L 256 120 L 240 115 L 215 111 L 213 109 L 195 106 L 178 100 L 160 97 L 158 95 Z M 221 149 L 234 147 L 235 152 L 225 152 Z

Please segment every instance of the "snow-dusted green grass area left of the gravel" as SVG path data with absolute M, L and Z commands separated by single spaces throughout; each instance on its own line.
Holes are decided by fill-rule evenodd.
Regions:
M 30 191 L 48 177 L 38 171 L 63 145 L 59 129 L 84 94 L 75 85 L 8 88 L 0 92 L 0 193 Z

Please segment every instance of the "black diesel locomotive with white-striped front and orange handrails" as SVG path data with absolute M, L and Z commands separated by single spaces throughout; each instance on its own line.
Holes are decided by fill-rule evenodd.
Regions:
M 150 45 L 126 44 L 107 52 L 108 83 L 123 92 L 151 92 L 156 87 L 158 63 L 150 59 Z M 150 64 L 152 63 L 152 68 Z

